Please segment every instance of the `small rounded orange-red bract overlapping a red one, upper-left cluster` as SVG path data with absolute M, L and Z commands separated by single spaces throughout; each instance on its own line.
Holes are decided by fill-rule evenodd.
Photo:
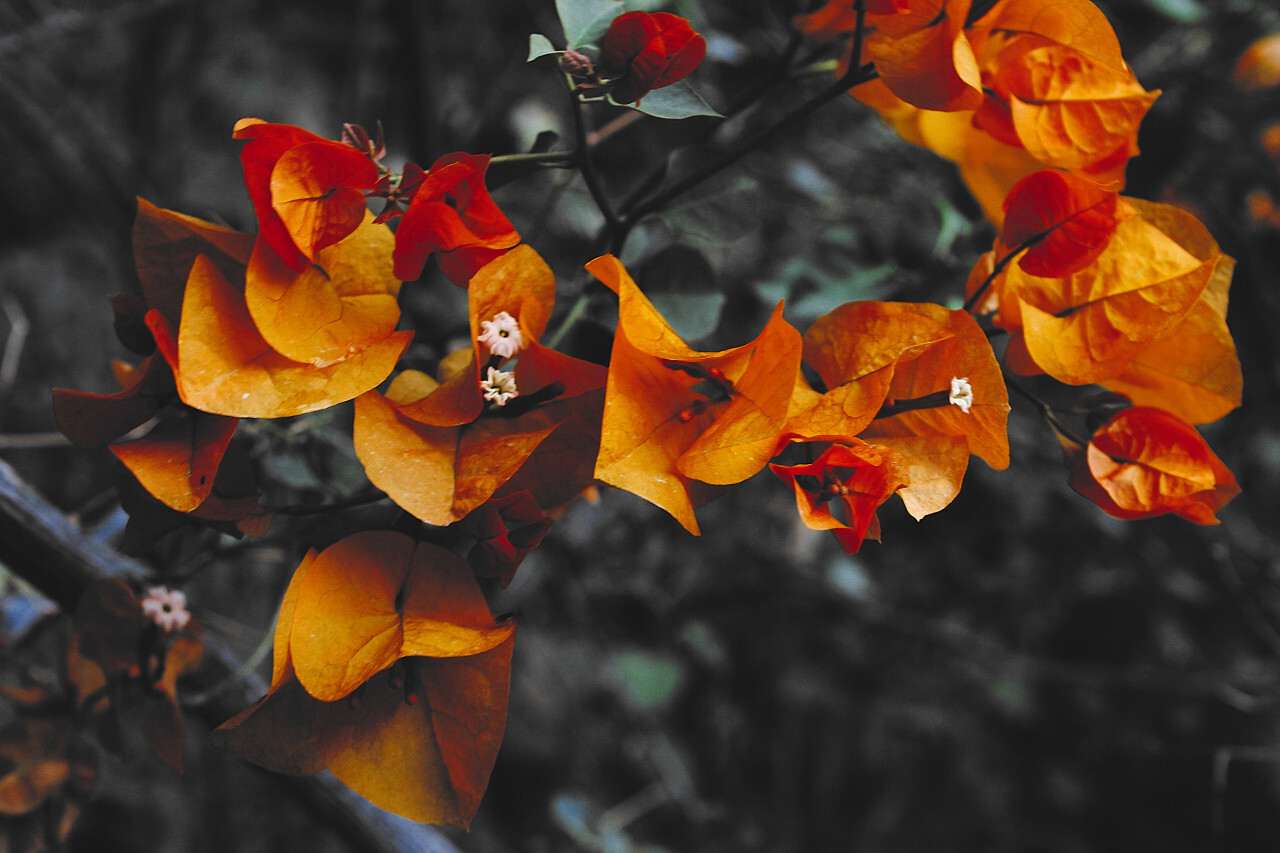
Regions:
M 271 209 L 311 263 L 360 227 L 369 214 L 365 190 L 378 182 L 369 156 L 342 142 L 303 142 L 271 168 Z

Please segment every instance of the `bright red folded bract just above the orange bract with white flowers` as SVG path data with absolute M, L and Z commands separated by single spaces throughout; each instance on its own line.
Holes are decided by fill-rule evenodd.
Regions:
M 481 154 L 445 154 L 431 165 L 396 229 L 396 278 L 416 280 L 435 252 L 449 280 L 466 287 L 475 273 L 520 242 L 489 197 Z

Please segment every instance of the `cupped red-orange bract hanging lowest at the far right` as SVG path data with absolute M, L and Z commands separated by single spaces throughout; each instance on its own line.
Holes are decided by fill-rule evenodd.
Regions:
M 1071 488 L 1119 519 L 1175 512 L 1217 524 L 1240 492 L 1235 476 L 1196 429 L 1161 409 L 1125 409 L 1076 452 Z

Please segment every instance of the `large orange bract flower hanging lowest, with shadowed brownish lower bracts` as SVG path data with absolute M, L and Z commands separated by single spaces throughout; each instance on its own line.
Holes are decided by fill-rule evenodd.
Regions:
M 512 630 L 454 555 L 355 534 L 303 558 L 276 621 L 271 689 L 215 735 L 269 770 L 329 768 L 375 806 L 465 827 L 506 726 Z M 370 676 L 325 702 L 300 666 L 326 695 Z

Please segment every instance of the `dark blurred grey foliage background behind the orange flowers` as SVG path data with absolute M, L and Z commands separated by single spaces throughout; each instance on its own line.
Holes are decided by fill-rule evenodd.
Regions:
M 708 36 L 691 79 L 722 110 L 768 86 L 804 8 L 668 6 Z M 1280 849 L 1280 170 L 1262 142 L 1280 91 L 1231 82 L 1280 13 L 1103 9 L 1164 90 L 1128 193 L 1188 207 L 1238 259 L 1245 401 L 1203 430 L 1244 489 L 1222 524 L 1106 517 L 1019 401 L 1010 470 L 975 460 L 922 523 L 887 505 L 883 544 L 854 557 L 804 529 L 767 474 L 701 510 L 700 539 L 628 494 L 581 502 L 494 598 L 521 620 L 511 719 L 472 830 L 449 834 L 461 849 Z M 137 287 L 134 197 L 252 229 L 242 117 L 329 137 L 380 120 L 392 164 L 567 136 L 556 72 L 524 61 L 531 32 L 559 40 L 552 0 L 0 0 L 0 457 L 86 524 L 114 524 L 114 459 L 47 435 L 50 388 L 115 388 L 109 359 L 127 353 L 106 297 Z M 769 91 L 723 137 L 708 119 L 643 120 L 594 156 L 621 197 L 673 147 L 763 127 L 826 79 Z M 581 182 L 493 178 L 564 307 L 600 251 Z M 648 220 L 626 260 L 713 348 L 754 337 L 782 296 L 801 329 L 850 298 L 955 305 L 991 237 L 947 164 L 841 99 Z M 424 337 L 465 323 L 451 288 L 406 287 Z M 589 351 L 585 329 L 571 346 Z M 279 494 L 316 500 L 352 476 L 343 418 L 253 428 Z M 146 556 L 247 653 L 324 535 L 315 519 L 261 540 L 187 530 Z M 348 849 L 202 731 L 187 762 L 178 777 L 105 758 L 73 848 Z

